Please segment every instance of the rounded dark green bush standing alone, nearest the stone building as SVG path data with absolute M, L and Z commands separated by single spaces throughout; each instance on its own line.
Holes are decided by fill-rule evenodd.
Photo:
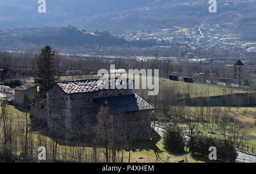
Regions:
M 183 131 L 176 126 L 166 126 L 163 134 L 163 145 L 168 152 L 184 152 L 185 138 Z

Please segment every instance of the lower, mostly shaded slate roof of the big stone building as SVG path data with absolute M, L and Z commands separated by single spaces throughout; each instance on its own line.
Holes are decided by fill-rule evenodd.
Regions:
M 154 109 L 154 107 L 148 104 L 147 101 L 143 100 L 137 94 L 102 97 L 94 100 L 98 104 L 108 107 L 110 113 L 122 113 Z

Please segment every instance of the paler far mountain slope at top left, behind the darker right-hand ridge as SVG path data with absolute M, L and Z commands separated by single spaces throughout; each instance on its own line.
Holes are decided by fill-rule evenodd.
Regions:
M 153 0 L 46 0 L 46 13 L 38 12 L 38 0 L 1 0 L 0 28 L 37 26 L 86 26 L 94 15 L 121 12 L 147 5 Z M 73 23 L 72 21 L 76 22 Z

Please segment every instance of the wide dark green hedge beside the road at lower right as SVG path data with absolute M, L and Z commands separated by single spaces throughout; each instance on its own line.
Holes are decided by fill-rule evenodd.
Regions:
M 204 156 L 209 155 L 209 147 L 217 148 L 217 159 L 225 162 L 234 162 L 237 158 L 237 151 L 233 146 L 233 142 L 228 139 L 216 139 L 205 137 L 203 135 L 191 135 L 189 141 L 189 151 Z

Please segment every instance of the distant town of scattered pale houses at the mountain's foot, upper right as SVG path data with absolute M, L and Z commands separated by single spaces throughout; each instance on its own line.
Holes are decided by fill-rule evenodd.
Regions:
M 232 24 L 226 24 L 232 26 Z M 164 45 L 180 45 L 181 48 L 188 48 L 193 52 L 196 49 L 214 50 L 216 52 L 240 51 L 256 52 L 256 41 L 241 41 L 241 36 L 229 32 L 229 29 L 221 28 L 220 24 L 201 24 L 194 28 L 174 27 L 156 31 L 126 32 L 119 37 L 126 40 L 155 41 Z M 185 54 L 185 58 L 193 57 L 193 54 Z

